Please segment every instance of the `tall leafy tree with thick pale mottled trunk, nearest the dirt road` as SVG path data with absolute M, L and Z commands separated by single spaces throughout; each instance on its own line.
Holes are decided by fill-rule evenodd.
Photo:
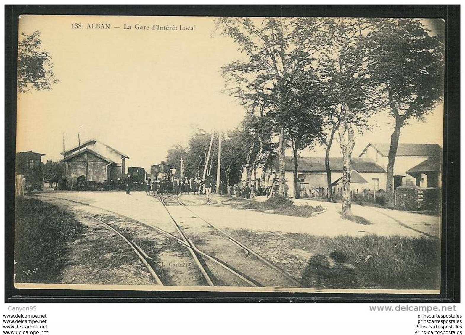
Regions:
M 337 134 L 343 156 L 342 214 L 351 214 L 350 176 L 355 137 L 368 127 L 370 116 L 378 110 L 379 91 L 371 80 L 372 60 L 365 43 L 372 20 L 336 18 L 326 20 L 324 32 L 331 44 L 319 57 L 322 80 L 331 87 L 331 102 L 336 122 L 331 129 Z

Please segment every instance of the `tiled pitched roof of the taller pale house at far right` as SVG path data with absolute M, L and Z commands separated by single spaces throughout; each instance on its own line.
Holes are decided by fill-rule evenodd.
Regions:
M 359 157 L 372 146 L 381 156 L 389 155 L 390 143 L 369 143 Z M 441 146 L 432 143 L 399 143 L 396 157 L 441 157 Z

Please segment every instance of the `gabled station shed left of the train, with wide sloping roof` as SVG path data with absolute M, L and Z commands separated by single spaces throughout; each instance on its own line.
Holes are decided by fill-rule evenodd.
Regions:
M 65 176 L 69 185 L 80 176 L 87 181 L 103 183 L 125 177 L 125 161 L 129 158 L 111 146 L 95 139 L 84 142 L 61 153 L 65 163 Z

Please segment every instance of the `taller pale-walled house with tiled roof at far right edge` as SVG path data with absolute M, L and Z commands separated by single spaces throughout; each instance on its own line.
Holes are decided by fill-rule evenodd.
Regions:
M 389 147 L 389 143 L 369 143 L 359 158 L 372 159 L 387 169 Z M 440 187 L 441 154 L 438 144 L 399 143 L 394 163 L 394 188 L 400 185 Z

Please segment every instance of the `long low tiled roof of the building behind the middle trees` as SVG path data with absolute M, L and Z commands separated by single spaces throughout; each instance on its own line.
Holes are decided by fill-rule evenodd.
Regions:
M 285 162 L 286 171 L 294 171 L 294 158 L 291 156 L 286 156 Z M 276 163 L 278 163 L 277 160 Z M 297 164 L 298 171 L 326 172 L 324 157 L 299 157 L 297 158 Z M 342 157 L 329 158 L 329 166 L 331 171 L 341 172 L 343 165 Z M 368 158 L 352 158 L 352 169 L 357 172 L 386 172 L 381 166 L 376 164 L 372 159 Z

